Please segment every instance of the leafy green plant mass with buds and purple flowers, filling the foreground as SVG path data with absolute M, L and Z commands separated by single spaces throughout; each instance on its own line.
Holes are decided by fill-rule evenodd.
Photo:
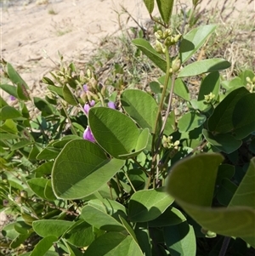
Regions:
M 151 15 L 154 1 L 144 3 Z M 133 40 L 163 71 L 147 91 L 110 90 L 93 67 L 61 63 L 42 78 L 45 98 L 31 99 L 2 61 L 0 87 L 19 102 L 0 99 L 9 255 L 218 255 L 222 236 L 229 250 L 243 245 L 238 255 L 255 247 L 254 73 L 226 81 L 227 60 L 186 64 L 216 26 L 180 35 L 169 28 L 173 1 L 156 4 L 155 46 Z

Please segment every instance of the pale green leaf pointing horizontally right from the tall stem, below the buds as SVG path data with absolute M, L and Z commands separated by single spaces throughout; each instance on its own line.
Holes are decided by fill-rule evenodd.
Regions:
M 207 72 L 221 71 L 229 66 L 229 61 L 220 58 L 200 60 L 184 66 L 184 68 L 179 71 L 178 77 L 194 77 Z

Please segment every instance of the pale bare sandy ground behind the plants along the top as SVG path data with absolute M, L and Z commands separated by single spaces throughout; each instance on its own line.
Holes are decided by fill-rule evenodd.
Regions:
M 42 94 L 40 79 L 54 70 L 54 62 L 59 62 L 58 51 L 69 62 L 86 63 L 102 38 L 135 26 L 132 19 L 127 22 L 121 4 L 141 26 L 149 20 L 142 0 L 0 1 L 2 58 L 20 71 L 33 94 Z M 191 0 L 181 2 L 190 4 Z M 202 0 L 201 8 L 220 10 L 223 3 Z M 237 0 L 233 7 L 254 11 L 254 4 L 251 1 L 247 6 L 246 0 Z

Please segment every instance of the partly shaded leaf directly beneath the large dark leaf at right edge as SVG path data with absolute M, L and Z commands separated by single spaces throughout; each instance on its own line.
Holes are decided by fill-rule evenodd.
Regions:
M 211 145 L 227 154 L 230 154 L 241 147 L 241 140 L 235 139 L 235 137 L 230 134 L 213 135 L 206 129 L 203 129 L 202 133 Z

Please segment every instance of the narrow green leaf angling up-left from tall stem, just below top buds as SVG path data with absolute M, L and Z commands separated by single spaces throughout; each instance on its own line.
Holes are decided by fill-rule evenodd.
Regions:
M 161 71 L 166 72 L 167 62 L 158 54 L 156 50 L 150 45 L 150 43 L 144 39 L 137 38 L 133 39 L 132 43 L 139 48 L 151 61 L 153 61 L 156 66 L 158 66 Z

